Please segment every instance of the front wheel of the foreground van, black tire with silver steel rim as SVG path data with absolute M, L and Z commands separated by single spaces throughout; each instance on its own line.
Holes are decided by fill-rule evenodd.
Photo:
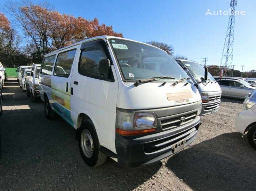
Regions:
M 85 120 L 81 126 L 79 139 L 78 139 L 79 150 L 84 162 L 91 166 L 102 165 L 107 155 L 99 150 L 100 143 L 91 120 Z

